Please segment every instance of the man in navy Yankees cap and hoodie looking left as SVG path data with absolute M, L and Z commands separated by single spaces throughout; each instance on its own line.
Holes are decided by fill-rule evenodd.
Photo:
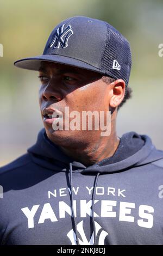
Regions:
M 39 71 L 45 129 L 1 168 L 1 244 L 162 245 L 163 152 L 146 135 L 116 134 L 129 42 L 104 21 L 72 17 L 42 56 L 15 65 Z

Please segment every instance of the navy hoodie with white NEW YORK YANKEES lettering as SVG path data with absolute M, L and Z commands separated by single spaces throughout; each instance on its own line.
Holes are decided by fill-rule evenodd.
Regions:
M 1 245 L 163 245 L 163 151 L 146 135 L 86 167 L 43 129 L 0 185 Z

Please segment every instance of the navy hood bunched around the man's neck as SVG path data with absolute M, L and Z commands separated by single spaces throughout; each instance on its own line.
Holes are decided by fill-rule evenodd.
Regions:
M 72 164 L 72 172 L 82 173 L 113 173 L 129 167 L 141 166 L 163 159 L 161 150 L 156 150 L 151 138 L 147 135 L 138 135 L 136 132 L 125 133 L 120 144 L 111 157 L 108 157 L 92 166 L 86 167 L 83 163 L 74 161 L 65 155 L 60 148 L 46 136 L 45 129 L 39 132 L 37 142 L 28 149 L 33 161 L 48 169 L 66 172 Z

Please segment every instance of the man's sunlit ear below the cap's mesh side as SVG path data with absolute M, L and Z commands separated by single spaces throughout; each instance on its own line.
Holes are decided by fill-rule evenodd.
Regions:
M 110 107 L 115 108 L 120 105 L 124 98 L 124 93 L 126 89 L 126 84 L 122 79 L 117 79 L 116 81 L 110 84 L 111 86 L 111 98 L 110 98 Z

